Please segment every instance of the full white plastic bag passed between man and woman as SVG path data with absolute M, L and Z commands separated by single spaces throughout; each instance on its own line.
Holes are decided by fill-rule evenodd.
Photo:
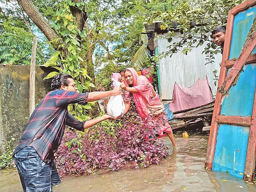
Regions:
M 112 78 L 112 81 L 113 81 L 114 88 L 120 87 L 120 82 L 116 81 L 116 79 L 113 79 L 113 78 Z M 122 95 L 112 96 L 109 99 L 107 104 L 108 115 L 111 115 L 116 118 L 118 116 L 123 115 L 124 109 L 125 109 L 125 106 L 124 106 L 124 100 Z

